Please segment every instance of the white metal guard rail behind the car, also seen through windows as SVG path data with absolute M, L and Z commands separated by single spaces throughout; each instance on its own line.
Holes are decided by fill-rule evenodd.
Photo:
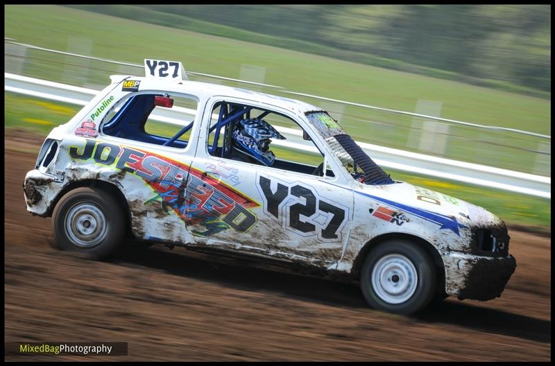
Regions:
M 74 87 L 72 85 L 28 78 L 12 73 L 4 73 L 4 87 L 7 92 L 26 94 L 75 105 L 85 105 L 99 92 L 94 89 Z M 169 123 L 181 124 L 182 119 L 178 117 L 184 113 L 189 114 L 187 111 L 169 112 L 164 114 L 164 116 L 158 116 L 158 119 Z M 274 141 L 275 145 L 281 144 L 284 147 L 296 150 L 310 150 L 310 147 L 302 140 L 300 134 L 296 133 L 296 130 L 281 127 L 278 127 L 278 130 L 287 137 L 287 140 Z M 405 150 L 386 148 L 370 143 L 357 143 L 377 164 L 384 168 L 551 199 L 551 177 L 411 153 Z

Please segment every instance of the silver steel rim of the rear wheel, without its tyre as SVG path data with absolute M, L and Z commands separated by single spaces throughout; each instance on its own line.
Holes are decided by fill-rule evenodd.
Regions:
M 94 247 L 108 234 L 108 220 L 96 204 L 80 202 L 67 212 L 65 232 L 77 247 Z

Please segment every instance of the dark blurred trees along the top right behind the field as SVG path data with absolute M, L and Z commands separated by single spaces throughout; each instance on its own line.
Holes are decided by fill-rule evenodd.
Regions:
M 546 98 L 551 90 L 549 5 L 74 7 Z

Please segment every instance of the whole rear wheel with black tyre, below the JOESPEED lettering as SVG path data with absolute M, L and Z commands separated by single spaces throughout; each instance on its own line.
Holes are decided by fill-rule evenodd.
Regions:
M 81 187 L 66 193 L 52 214 L 52 231 L 61 250 L 76 250 L 103 259 L 117 252 L 126 221 L 110 193 Z

